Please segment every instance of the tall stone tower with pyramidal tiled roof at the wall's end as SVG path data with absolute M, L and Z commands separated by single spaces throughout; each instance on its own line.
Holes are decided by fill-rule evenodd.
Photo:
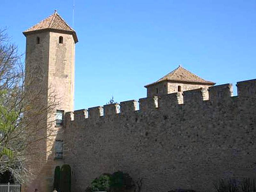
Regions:
M 52 190 L 55 167 L 64 162 L 63 116 L 74 108 L 75 44 L 78 39 L 76 32 L 56 11 L 23 34 L 26 36 L 25 85 L 28 92 L 38 90 L 35 94 L 40 98 L 34 107 L 43 108 L 54 103 L 51 114 L 44 114 L 44 121 L 38 125 L 41 128 L 35 137 L 40 141 L 29 149 L 37 156 L 27 163 L 35 178 L 26 191 L 34 192 L 37 188 L 40 192 L 48 192 Z

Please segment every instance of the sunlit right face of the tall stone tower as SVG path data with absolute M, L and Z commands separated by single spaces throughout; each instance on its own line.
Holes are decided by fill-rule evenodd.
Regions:
M 74 83 L 75 83 L 75 42 L 70 34 L 49 32 L 49 91 L 56 96 L 56 110 L 74 110 Z M 63 43 L 59 43 L 59 37 L 63 37 Z M 56 111 L 55 110 L 55 111 Z M 52 116 L 50 121 L 55 121 Z M 63 159 L 55 158 L 55 140 L 63 140 L 63 128 L 53 124 L 50 130 L 51 136 L 47 138 L 47 166 L 45 167 L 47 189 L 53 190 L 54 170 L 56 166 L 63 165 Z M 43 191 L 41 189 L 41 191 Z

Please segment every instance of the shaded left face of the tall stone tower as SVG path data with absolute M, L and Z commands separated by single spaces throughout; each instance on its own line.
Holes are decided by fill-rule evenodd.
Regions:
M 37 44 L 36 39 L 40 38 L 40 43 Z M 29 94 L 37 95 L 40 98 L 40 106 L 34 103 L 34 108 L 46 108 L 47 106 L 47 92 L 48 92 L 48 62 L 49 62 L 49 32 L 41 32 L 37 34 L 30 34 L 26 38 L 26 78 L 25 85 Z M 36 91 L 34 91 L 36 90 Z M 40 94 L 39 94 L 40 93 Z M 32 97 L 33 98 L 33 97 Z M 31 101 L 30 104 L 33 104 Z M 38 112 L 38 111 L 36 111 Z M 26 114 L 25 114 L 26 115 Z M 36 116 L 37 118 L 39 116 Z M 34 117 L 35 118 L 35 117 Z M 36 122 L 38 119 L 31 118 L 31 122 Z M 33 124 L 34 125 L 34 124 Z M 47 135 L 47 120 L 42 120 L 38 126 L 31 126 L 30 137 L 33 144 L 29 145 L 26 153 L 35 153 L 33 156 L 28 156 L 26 159 L 26 168 L 33 173 L 30 177 L 30 184 L 23 190 L 32 192 L 35 188 L 47 185 L 47 181 L 42 175 L 45 175 L 42 169 L 47 163 L 46 159 L 46 139 Z M 34 134 L 33 134 L 34 132 Z M 42 139 L 43 138 L 43 139 Z M 38 140 L 38 141 L 37 141 Z M 37 142 L 36 142 L 37 141 Z M 38 150 L 40 149 L 40 150 Z

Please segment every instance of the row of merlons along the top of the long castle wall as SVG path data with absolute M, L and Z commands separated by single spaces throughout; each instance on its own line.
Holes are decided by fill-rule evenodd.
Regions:
M 256 79 L 247 80 L 237 82 L 237 92 L 238 98 L 256 97 Z M 214 101 L 220 100 L 227 100 L 228 98 L 232 97 L 233 95 L 233 88 L 232 84 L 222 84 L 211 86 L 207 89 L 200 88 L 194 89 L 189 91 L 176 92 L 171 94 L 166 94 L 162 96 L 154 96 L 154 97 L 147 97 L 139 99 L 140 103 L 140 110 L 139 112 L 145 111 L 152 111 L 156 110 L 156 108 L 172 108 L 175 106 L 179 106 L 183 103 L 186 105 L 200 105 L 204 102 L 204 100 L 209 100 L 214 103 Z M 225 101 L 224 101 L 225 102 Z M 195 106 L 196 107 L 196 106 Z M 70 121 L 80 121 L 82 119 L 88 118 L 96 119 L 100 116 L 103 116 L 103 109 L 104 109 L 104 116 L 112 116 L 113 114 L 119 113 L 119 104 L 109 104 L 92 107 L 87 109 L 76 110 L 74 112 L 67 112 L 65 115 L 66 125 L 70 123 Z M 136 100 L 129 100 L 120 102 L 120 114 L 132 114 L 137 109 L 137 101 Z

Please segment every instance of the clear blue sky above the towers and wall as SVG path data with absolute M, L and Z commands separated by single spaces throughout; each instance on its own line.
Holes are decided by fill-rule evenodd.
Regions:
M 54 9 L 72 26 L 73 2 L 1 0 L 0 28 L 24 53 L 22 31 Z M 255 0 L 75 0 L 75 109 L 146 97 L 179 64 L 236 90 L 256 78 L 255 21 Z

